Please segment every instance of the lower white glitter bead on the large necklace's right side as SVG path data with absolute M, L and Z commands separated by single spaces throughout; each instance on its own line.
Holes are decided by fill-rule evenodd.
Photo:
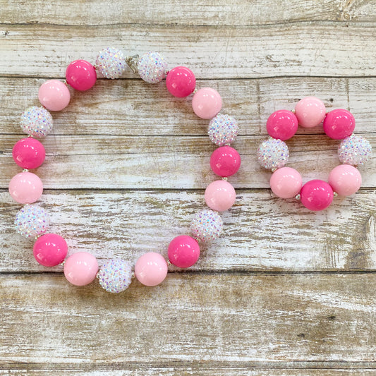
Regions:
M 201 210 L 195 214 L 192 222 L 190 222 L 190 232 L 193 238 L 209 243 L 218 238 L 221 234 L 223 222 L 221 216 L 210 209 Z

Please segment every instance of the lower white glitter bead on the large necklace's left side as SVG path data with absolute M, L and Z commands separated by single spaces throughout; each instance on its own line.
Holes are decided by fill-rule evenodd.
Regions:
M 25 205 L 16 214 L 14 224 L 18 234 L 25 238 L 34 238 L 47 231 L 49 214 L 40 205 Z

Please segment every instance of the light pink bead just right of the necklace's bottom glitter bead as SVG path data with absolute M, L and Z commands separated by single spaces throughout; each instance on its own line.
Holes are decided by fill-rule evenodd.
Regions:
M 159 253 L 145 253 L 135 263 L 135 277 L 145 286 L 162 283 L 167 271 L 167 262 Z

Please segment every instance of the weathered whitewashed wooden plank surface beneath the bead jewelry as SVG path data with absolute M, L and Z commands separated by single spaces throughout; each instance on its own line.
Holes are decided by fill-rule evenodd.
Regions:
M 0 375 L 376 375 L 375 158 L 356 195 L 318 213 L 274 198 L 255 160 L 267 116 L 307 95 L 352 111 L 376 147 L 375 1 L 0 0 L 0 24 Z M 160 51 L 216 88 L 243 161 L 224 234 L 198 264 L 119 295 L 37 265 L 7 192 L 20 112 L 107 46 Z M 54 114 L 37 174 L 70 253 L 135 262 L 188 231 L 215 178 L 190 100 L 127 71 Z M 304 181 L 338 164 L 322 133 L 288 141 Z

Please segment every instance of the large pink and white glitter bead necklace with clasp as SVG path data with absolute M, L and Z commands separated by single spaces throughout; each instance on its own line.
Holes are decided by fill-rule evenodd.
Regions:
M 190 224 L 191 236 L 176 236 L 169 243 L 169 262 L 159 253 L 145 253 L 135 262 L 134 272 L 126 260 L 107 260 L 99 269 L 96 257 L 90 253 L 73 253 L 66 258 L 66 241 L 58 234 L 46 234 L 49 226 L 47 211 L 40 205 L 30 205 L 42 195 L 43 185 L 37 175 L 28 171 L 44 162 L 45 150 L 36 138 L 51 131 L 53 121 L 49 111 L 61 111 L 68 105 L 71 95 L 67 86 L 78 91 L 89 90 L 95 85 L 97 71 L 104 78 L 115 79 L 121 77 L 127 66 L 147 83 L 159 83 L 166 78 L 166 87 L 175 97 L 188 97 L 194 92 L 193 111 L 202 119 L 211 119 L 208 134 L 210 140 L 219 146 L 210 157 L 210 166 L 222 177 L 222 180 L 207 186 L 205 201 L 210 209 L 195 214 Z M 30 107 L 21 115 L 20 126 L 29 137 L 16 142 L 13 159 L 23 172 L 9 183 L 11 197 L 25 204 L 16 215 L 15 224 L 18 233 L 36 239 L 33 247 L 35 260 L 47 267 L 63 264 L 66 279 L 78 286 L 90 284 L 97 277 L 99 284 L 113 293 L 127 289 L 133 275 L 146 286 L 156 286 L 165 279 L 169 263 L 181 268 L 194 265 L 200 255 L 199 242 L 213 241 L 222 231 L 222 218 L 218 212 L 228 210 L 235 202 L 235 190 L 227 178 L 234 175 L 241 164 L 238 152 L 229 146 L 238 134 L 238 123 L 229 115 L 219 114 L 222 108 L 219 93 L 210 87 L 197 90 L 195 75 L 186 67 L 177 66 L 168 71 L 166 60 L 157 52 L 147 52 L 139 58 L 138 55 L 124 56 L 118 49 L 106 48 L 99 51 L 95 66 L 84 60 L 70 63 L 66 68 L 66 81 L 43 83 L 38 97 L 43 107 Z

